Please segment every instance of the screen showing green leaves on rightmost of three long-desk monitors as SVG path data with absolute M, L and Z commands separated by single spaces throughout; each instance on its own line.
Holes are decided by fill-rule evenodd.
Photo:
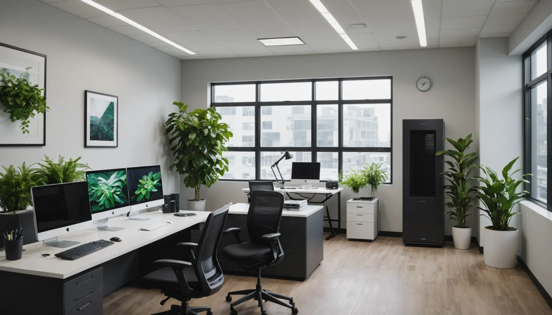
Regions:
M 163 199 L 160 165 L 130 167 L 126 173 L 129 177 L 131 206 Z

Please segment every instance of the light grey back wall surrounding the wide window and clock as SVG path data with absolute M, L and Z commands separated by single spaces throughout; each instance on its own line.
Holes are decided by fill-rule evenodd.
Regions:
M 190 108 L 206 108 L 210 82 L 393 76 L 392 185 L 381 187 L 376 196 L 382 201 L 380 230 L 401 232 L 402 120 L 442 118 L 447 137 L 473 133 L 477 139 L 474 70 L 473 47 L 183 61 L 182 100 Z M 422 76 L 432 80 L 426 93 L 416 89 Z M 474 150 L 476 146 L 474 143 Z M 246 186 L 245 182 L 219 181 L 210 189 L 203 188 L 201 197 L 207 200 L 206 209 L 214 210 L 229 201 L 246 201 L 241 191 Z M 183 185 L 181 191 L 182 200 L 193 194 Z M 346 190 L 341 199 L 342 227 L 346 226 L 344 205 L 351 197 Z M 332 216 L 337 217 L 336 201 L 332 202 Z M 447 222 L 446 234 L 450 234 L 450 226 Z

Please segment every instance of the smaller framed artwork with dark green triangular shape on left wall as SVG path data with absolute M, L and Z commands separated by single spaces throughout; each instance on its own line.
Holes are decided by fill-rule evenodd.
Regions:
M 119 146 L 119 97 L 84 91 L 84 147 L 116 148 Z

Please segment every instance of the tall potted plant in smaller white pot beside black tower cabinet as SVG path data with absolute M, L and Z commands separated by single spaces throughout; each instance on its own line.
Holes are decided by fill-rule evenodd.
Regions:
M 475 168 L 474 162 L 476 161 L 475 153 L 465 154 L 465 151 L 470 147 L 471 134 L 465 138 L 459 138 L 454 141 L 449 138 L 447 140 L 456 150 L 444 150 L 437 152 L 436 155 L 444 154 L 451 157 L 454 161 L 443 161 L 449 165 L 447 172 L 441 174 L 445 175 L 445 179 L 448 180 L 448 184 L 444 185 L 445 195 L 450 200 L 445 204 L 450 211 L 448 211 L 449 218 L 456 220 L 457 224 L 452 227 L 452 237 L 454 247 L 458 249 L 469 249 L 471 243 L 471 227 L 466 226 L 466 218 L 470 216 L 469 213 L 473 202 L 476 199 L 474 192 L 475 188 L 470 183 L 470 172 Z

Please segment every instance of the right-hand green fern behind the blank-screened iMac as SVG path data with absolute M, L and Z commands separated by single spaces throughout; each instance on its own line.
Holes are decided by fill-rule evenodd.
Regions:
M 51 158 L 44 156 L 44 163 L 38 163 L 39 169 L 36 169 L 36 177 L 40 185 L 72 183 L 73 181 L 84 180 L 84 171 L 91 169 L 88 164 L 78 163 L 81 157 L 70 158 L 65 162 L 61 155 L 57 158 L 57 163 Z

